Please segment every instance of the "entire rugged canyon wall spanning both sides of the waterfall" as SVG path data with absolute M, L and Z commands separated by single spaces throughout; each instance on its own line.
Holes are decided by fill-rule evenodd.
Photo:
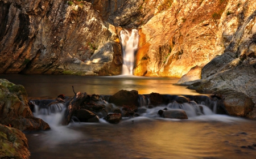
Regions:
M 254 6 L 253 0 L 0 0 L 0 73 L 119 75 L 121 28 L 139 30 L 137 76 L 180 78 L 227 51 L 242 60 L 233 67 L 253 64 Z

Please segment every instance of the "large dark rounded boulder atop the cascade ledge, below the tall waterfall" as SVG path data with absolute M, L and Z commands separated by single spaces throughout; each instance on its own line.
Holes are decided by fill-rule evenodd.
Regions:
M 126 91 L 121 90 L 115 93 L 113 96 L 109 97 L 109 103 L 113 103 L 117 106 L 139 106 L 138 102 L 139 94 L 138 91 Z

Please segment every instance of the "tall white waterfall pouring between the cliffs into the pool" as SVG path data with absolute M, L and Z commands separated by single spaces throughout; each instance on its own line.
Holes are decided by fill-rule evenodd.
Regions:
M 127 29 L 122 29 L 120 40 L 123 51 L 122 75 L 133 75 L 134 53 L 138 48 L 139 42 L 138 31 L 132 29 L 130 32 Z

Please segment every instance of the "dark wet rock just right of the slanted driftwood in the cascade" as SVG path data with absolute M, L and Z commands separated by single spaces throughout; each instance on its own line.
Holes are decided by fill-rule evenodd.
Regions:
M 76 110 L 74 115 L 80 122 L 99 122 L 98 116 L 86 109 Z

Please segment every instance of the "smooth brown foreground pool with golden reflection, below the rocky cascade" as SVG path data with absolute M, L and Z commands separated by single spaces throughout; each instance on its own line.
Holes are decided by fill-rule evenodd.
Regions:
M 131 122 L 131 119 L 119 124 L 72 124 L 65 140 L 52 147 L 49 145 L 60 136 L 58 131 L 26 136 L 31 159 L 255 158 L 255 149 L 241 148 L 256 142 L 255 124 L 256 121 L 240 120 Z

